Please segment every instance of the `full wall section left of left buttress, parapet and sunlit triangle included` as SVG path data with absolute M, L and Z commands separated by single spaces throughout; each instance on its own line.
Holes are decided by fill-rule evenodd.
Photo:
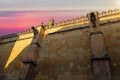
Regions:
M 37 27 L 39 30 L 40 27 Z M 21 63 L 29 52 L 33 33 L 22 32 L 1 37 L 0 42 L 0 80 L 18 80 Z

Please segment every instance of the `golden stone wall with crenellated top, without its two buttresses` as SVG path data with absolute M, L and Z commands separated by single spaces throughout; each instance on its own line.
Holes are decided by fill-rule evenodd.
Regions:
M 110 56 L 111 80 L 120 80 L 120 13 L 103 11 L 99 18 L 97 30 L 103 33 Z M 88 18 L 44 26 L 35 80 L 93 80 Z M 1 37 L 0 80 L 18 80 L 32 38 L 31 30 Z

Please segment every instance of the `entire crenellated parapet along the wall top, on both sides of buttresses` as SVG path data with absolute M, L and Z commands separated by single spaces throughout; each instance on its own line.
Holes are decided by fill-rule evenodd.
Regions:
M 111 22 L 110 20 L 112 20 L 112 19 L 120 18 L 120 9 L 98 12 L 98 17 L 100 20 L 100 24 Z M 114 20 L 112 20 L 112 21 L 114 21 Z M 74 26 L 74 25 L 80 25 L 80 26 L 82 25 L 83 26 L 83 25 L 87 25 L 87 24 L 89 24 L 89 20 L 88 20 L 88 16 L 86 15 L 86 16 L 63 20 L 58 23 L 56 23 L 55 20 L 52 18 L 49 20 L 48 24 L 38 25 L 38 26 L 36 26 L 36 28 L 44 26 L 44 28 L 47 30 L 47 29 L 53 29 L 53 28 L 57 28 L 57 27 L 62 28 L 62 27 Z M 33 33 L 32 29 L 27 29 L 27 30 L 23 30 L 18 33 L 13 33 L 10 35 L 2 36 L 1 38 L 6 39 L 6 38 L 21 36 L 21 35 L 30 34 L 30 33 Z

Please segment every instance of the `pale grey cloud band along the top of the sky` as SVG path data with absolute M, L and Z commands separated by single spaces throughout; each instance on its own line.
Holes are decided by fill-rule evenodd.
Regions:
M 120 0 L 1 0 L 0 10 L 80 10 L 118 8 Z

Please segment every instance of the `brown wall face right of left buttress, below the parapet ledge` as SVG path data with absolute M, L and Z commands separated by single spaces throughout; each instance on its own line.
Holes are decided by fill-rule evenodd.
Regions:
M 120 79 L 119 25 L 120 23 L 114 23 L 98 28 L 105 38 L 114 80 Z M 36 80 L 92 80 L 90 29 L 62 30 L 63 32 L 48 34 L 43 39 Z

